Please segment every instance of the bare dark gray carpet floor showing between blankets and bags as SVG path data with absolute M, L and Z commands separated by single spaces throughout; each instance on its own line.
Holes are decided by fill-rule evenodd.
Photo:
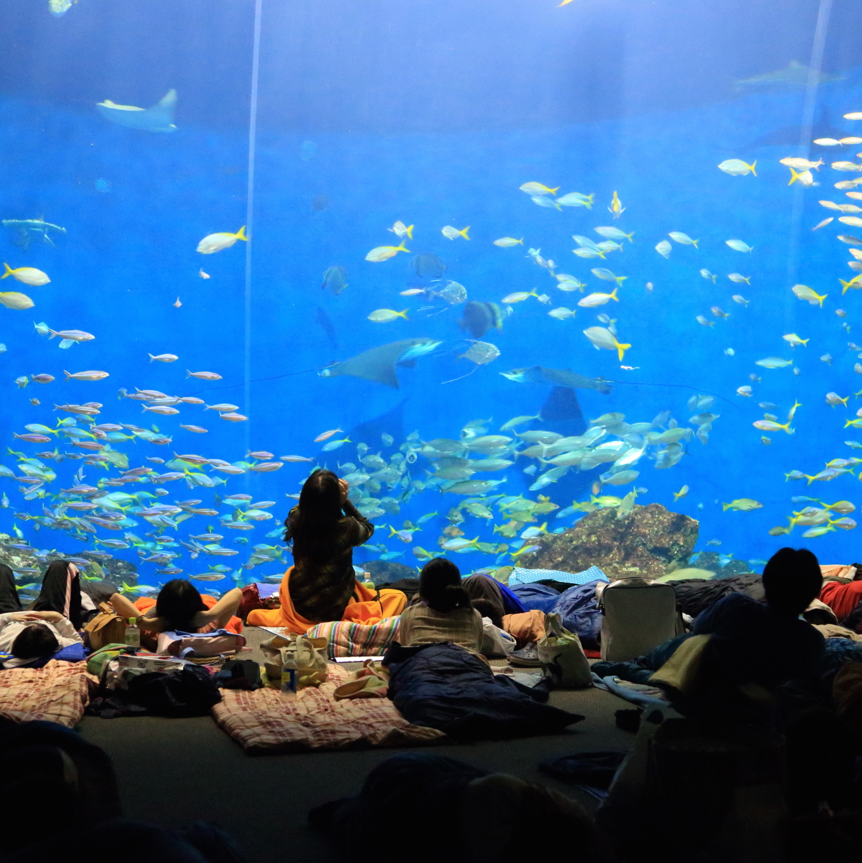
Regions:
M 246 630 L 249 646 L 255 646 L 248 658 L 262 660 L 256 646 L 267 634 L 255 627 Z M 614 711 L 632 704 L 595 689 L 553 692 L 551 704 L 586 719 L 565 734 L 435 746 L 434 751 L 542 782 L 594 809 L 595 798 L 544 776 L 537 765 L 554 755 L 630 748 L 634 735 L 615 727 Z M 127 816 L 165 827 L 199 819 L 216 822 L 236 837 L 254 863 L 337 860 L 326 842 L 306 828 L 308 809 L 355 792 L 374 765 L 397 751 L 249 757 L 210 717 L 86 716 L 78 731 L 113 759 Z

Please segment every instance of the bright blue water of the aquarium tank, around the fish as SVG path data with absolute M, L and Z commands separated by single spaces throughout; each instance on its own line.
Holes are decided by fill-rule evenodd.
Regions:
M 862 343 L 859 294 L 840 295 L 839 279 L 850 280 L 855 273 L 846 265 L 852 260 L 850 247 L 835 238 L 839 233 L 859 236 L 862 228 L 836 219 L 811 230 L 821 219 L 840 215 L 819 200 L 851 202 L 833 184 L 862 171 L 842 173 L 829 164 L 859 161 L 862 157 L 855 154 L 862 144 L 757 145 L 777 129 L 802 123 L 807 91 L 733 86 L 734 79 L 782 68 L 790 60 L 808 65 L 816 4 L 801 4 L 793 26 L 784 22 L 771 33 L 769 46 L 761 48 L 756 32 L 749 29 L 745 38 L 740 36 L 745 28 L 740 29 L 739 16 L 745 10 L 732 3 L 723 16 L 715 10 L 691 14 L 673 27 L 663 17 L 673 11 L 670 3 L 658 13 L 648 8 L 653 4 L 579 8 L 576 0 L 563 9 L 553 3 L 549 8 L 480 4 L 473 12 L 457 14 L 454 4 L 444 3 L 412 18 L 400 17 L 401 37 L 381 23 L 386 16 L 349 3 L 343 4 L 346 17 L 333 13 L 325 20 L 306 4 L 297 4 L 292 17 L 264 3 L 250 208 L 254 4 L 244 3 L 239 11 L 238 5 L 188 3 L 173 12 L 162 8 L 175 16 L 177 27 L 191 26 L 198 13 L 200 20 L 206 18 L 197 41 L 185 45 L 173 28 L 163 34 L 154 16 L 146 17 L 142 9 L 81 0 L 65 16 L 53 18 L 41 3 L 16 5 L 16 56 L 22 65 L 0 95 L 0 144 L 7 168 L 0 190 L 2 217 L 44 217 L 65 227 L 66 234 L 52 235 L 56 248 L 37 238 L 26 252 L 12 242 L 15 235 L 9 230 L 0 240 L 3 261 L 13 268 L 40 268 L 51 278 L 44 287 L 0 282 L 3 290 L 20 289 L 35 302 L 27 311 L 0 309 L 0 341 L 7 347 L 0 354 L 6 467 L 16 469 L 16 453 L 32 458 L 55 446 L 60 454 L 85 454 L 53 435 L 50 444 L 12 438 L 13 431 L 25 432 L 24 425 L 53 429 L 59 419 L 73 416 L 54 410 L 55 404 L 85 401 L 103 404 L 99 423 L 155 425 L 172 438 L 163 445 L 140 438 L 111 444 L 129 458 L 129 468 L 167 470 L 146 459 L 168 461 L 174 453 L 248 468 L 254 459 L 247 453 L 265 450 L 276 461 L 295 454 L 339 469 L 358 464 L 357 439 L 331 452 L 322 451 L 323 444 L 313 439 L 322 431 L 350 431 L 387 414 L 374 438 L 365 442 L 370 453 L 381 451 L 388 461 L 413 431 L 420 442 L 457 439 L 467 423 L 484 419 L 487 433 L 497 434 L 508 419 L 539 413 L 550 387 L 508 381 L 500 372 L 541 365 L 620 381 L 608 395 L 576 391 L 587 422 L 609 412 L 623 413 L 629 424 L 651 422 L 670 411 L 679 425 L 694 431 L 689 417 L 699 411 L 689 411 L 689 399 L 714 396 L 709 411 L 720 416 L 708 444 L 696 438 L 685 443 L 679 463 L 664 470 L 655 469 L 649 456 L 658 447 L 650 447 L 633 466 L 639 476 L 626 485 L 606 486 L 603 494 L 623 497 L 632 488 L 646 489 L 638 494 L 639 504 L 662 503 L 701 522 L 698 549 L 758 560 L 790 543 L 811 548 L 824 563 L 855 557 L 853 530 L 808 539 L 802 537 L 806 527 L 797 526 L 789 537 L 771 536 L 769 530 L 787 525 L 794 511 L 817 505 L 793 503 L 793 495 L 862 504 L 855 469 L 832 482 L 809 485 L 785 479 L 795 469 L 813 476 L 831 459 L 856 456 L 857 450 L 844 442 L 862 440 L 862 430 L 844 428 L 862 406 L 862 398 L 853 395 L 862 390 L 862 375 L 853 372 L 860 350 L 847 344 Z M 400 15 L 393 5 L 386 10 Z M 752 21 L 764 26 L 774 21 L 771 13 L 778 15 L 774 3 L 760 3 L 754 12 Z M 846 112 L 862 110 L 862 56 L 846 44 L 848 30 L 859 26 L 855 14 L 854 19 L 846 4 L 834 6 L 823 69 L 842 79 L 816 88 L 813 108 L 818 122 L 825 117 L 844 135 L 862 137 L 862 122 L 842 119 Z M 149 36 L 148 54 L 129 43 L 129 31 L 135 28 Z M 680 33 L 690 38 L 681 39 Z M 706 45 L 714 47 L 705 51 Z M 567 46 L 580 46 L 570 66 Z M 34 57 L 44 62 L 33 63 Z M 27 67 L 34 71 L 22 72 Z M 171 87 L 179 91 L 173 134 L 123 128 L 94 107 L 104 98 L 148 107 Z M 827 163 L 815 173 L 821 185 L 788 186 L 790 171 L 779 160 L 808 152 L 812 160 L 822 155 Z M 732 158 L 757 160 L 757 177 L 729 176 L 716 167 Z M 592 210 L 539 207 L 519 191 L 528 181 L 561 186 L 559 194 L 594 194 L 595 205 Z M 607 211 L 613 192 L 626 208 L 619 219 Z M 370 249 L 398 244 L 387 231 L 396 220 L 415 225 L 412 240 L 406 241 L 410 254 L 366 261 Z M 240 241 L 215 255 L 196 252 L 202 237 L 234 232 L 243 224 L 249 224 L 248 245 Z M 440 232 L 444 225 L 459 230 L 469 225 L 469 241 L 447 239 Z M 593 229 L 607 225 L 633 231 L 634 242 L 608 253 L 607 261 L 572 254 L 572 235 L 599 242 Z M 693 237 L 697 248 L 672 243 L 665 260 L 654 247 L 670 231 Z M 498 248 L 492 241 L 500 236 L 524 237 L 524 245 Z M 725 241 L 732 238 L 748 243 L 752 253 L 729 249 Z M 557 272 L 587 282 L 585 293 L 558 290 L 556 280 L 527 254 L 530 248 L 555 261 Z M 513 303 L 502 329 L 481 337 L 500 356 L 477 368 L 458 358 L 469 348 L 457 325 L 462 304 L 400 296 L 408 287 L 428 287 L 429 280 L 418 279 L 411 266 L 420 253 L 438 255 L 447 266 L 446 278 L 462 284 L 470 300 L 500 303 L 509 293 L 535 289 L 547 293 L 551 303 L 535 297 Z M 338 296 L 320 288 L 324 270 L 332 265 L 347 270 L 348 287 Z M 567 320 L 549 317 L 557 307 L 576 308 L 588 293 L 610 291 L 612 285 L 590 273 L 594 267 L 626 276 L 619 303 L 577 308 L 576 317 Z M 210 279 L 199 276 L 201 268 Z M 717 274 L 717 282 L 704 280 L 701 268 Z M 733 272 L 750 277 L 751 285 L 727 280 Z M 823 307 L 796 299 L 790 287 L 797 283 L 827 294 Z M 733 302 L 733 294 L 750 305 Z M 179 308 L 173 305 L 178 298 Z M 715 317 L 711 306 L 730 317 Z M 368 320 L 370 312 L 382 308 L 406 309 L 408 320 Z M 839 308 L 846 317 L 835 314 Z M 632 344 L 622 363 L 614 351 L 595 350 L 582 335 L 589 326 L 603 325 L 600 314 L 614 318 L 620 341 Z M 698 315 L 714 325 L 698 324 Z M 330 331 L 320 323 L 324 318 Z M 42 321 L 55 330 L 89 332 L 95 339 L 60 350 L 58 339 L 35 332 L 33 324 Z M 781 338 L 787 333 L 810 341 L 790 350 Z M 431 355 L 418 357 L 413 368 L 398 369 L 397 391 L 355 377 L 318 375 L 331 362 L 412 337 L 441 344 Z M 734 356 L 727 356 L 726 349 L 733 349 Z M 148 361 L 148 354 L 162 353 L 179 360 Z M 831 364 L 821 362 L 826 354 L 832 356 Z M 799 375 L 790 367 L 769 370 L 754 364 L 767 356 L 792 360 Z M 64 383 L 64 369 L 104 370 L 110 376 Z M 223 379 L 198 381 L 186 377 L 186 369 L 216 372 Z M 56 380 L 23 388 L 14 382 L 21 375 L 41 373 Z M 752 386 L 752 398 L 737 394 L 746 385 Z M 183 404 L 177 415 L 144 413 L 141 402 L 118 397 L 121 387 L 195 395 L 206 404 L 228 402 L 248 420 L 225 422 L 204 406 Z M 847 406 L 828 406 L 829 392 L 849 396 Z M 32 405 L 31 399 L 41 404 Z M 802 406 L 791 424 L 795 434 L 752 427 L 764 413 L 784 423 L 796 400 Z M 758 407 L 761 401 L 777 408 L 764 412 Z M 393 416 L 399 408 L 400 417 Z M 180 423 L 209 431 L 195 434 Z M 88 427 L 83 419 L 77 425 Z M 529 425 L 548 427 L 537 421 L 518 431 Z M 381 442 L 381 429 L 393 433 L 391 446 Z M 513 437 L 511 431 L 506 434 Z M 764 437 L 769 444 L 762 442 Z M 573 469 L 560 482 L 531 492 L 528 486 L 542 466 L 536 476 L 525 476 L 527 464 L 537 463 L 525 457 L 514 461 L 510 469 L 477 473 L 472 479 L 505 480 L 488 492 L 492 500 L 499 494 L 525 494 L 532 500 L 545 494 L 563 509 L 573 498 L 588 501 L 590 487 L 610 467 L 606 463 L 582 474 Z M 9 500 L 0 509 L 0 531 L 17 528 L 35 548 L 70 555 L 105 551 L 94 537 L 123 539 L 123 530 L 98 527 L 93 534 L 51 526 L 63 501 L 83 499 L 60 491 L 72 487 L 76 471 L 83 468 L 84 482 L 98 486 L 116 478 L 118 469 L 74 458 L 43 457 L 41 462 L 57 478 L 28 495 L 32 500 L 23 499 L 15 480 L 0 479 L 0 491 Z M 238 551 L 236 555 L 192 558 L 182 545 L 165 546 L 179 554 L 173 565 L 185 576 L 202 574 L 211 564 L 230 566 L 227 577 L 214 583 L 220 588 L 283 570 L 280 561 L 252 569 L 242 564 L 253 545 L 280 545 L 280 538 L 267 534 L 286 516 L 293 504 L 286 495 L 299 492 L 311 466 L 284 463 L 273 473 L 247 469 L 227 476 L 186 464 L 192 474 L 226 482 L 215 488 L 190 488 L 184 480 L 160 486 L 138 482 L 108 490 L 154 494 L 164 488 L 168 494 L 144 497 L 140 503 L 200 500 L 198 507 L 216 508 L 225 518 L 236 507 L 219 504 L 216 495 L 275 501 L 266 507 L 274 518 L 249 521 L 254 529 L 248 531 L 220 529 L 219 516 L 205 515 L 175 527 L 154 526 L 135 512 L 138 504 L 123 504 L 136 523 L 129 522 L 126 529 L 143 541 L 156 538 L 148 533 L 185 541 L 210 528 L 222 533 L 221 545 Z M 427 482 L 426 472 L 432 469 L 433 463 L 420 456 L 407 473 L 412 481 Z M 689 494 L 674 502 L 672 493 L 683 485 L 689 486 Z M 415 486 L 409 494 L 399 486 L 369 496 L 386 495 L 399 499 L 400 511 L 374 519 L 380 529 L 373 542 L 401 552 L 393 559 L 409 566 L 420 562 L 414 546 L 437 551 L 452 507 L 480 496 L 441 494 L 434 487 L 418 491 Z M 762 507 L 723 511 L 722 502 L 741 498 Z M 45 514 L 43 507 L 53 514 Z M 506 521 L 493 509 L 493 523 L 462 510 L 461 529 L 468 539 L 505 542 L 507 551 L 516 551 L 522 539 L 492 532 Z M 422 525 L 411 544 L 388 538 L 385 526 L 400 529 L 405 520 L 416 522 L 434 511 L 439 515 Z M 547 520 L 549 530 L 568 527 L 579 517 L 557 520 L 555 514 L 540 517 L 535 526 Z M 37 521 L 26 516 L 41 517 L 43 524 L 37 530 Z M 54 523 L 55 528 L 64 526 L 68 528 Z M 720 545 L 706 546 L 708 540 Z M 141 563 L 140 546 L 129 542 L 128 549 L 108 551 L 134 562 L 142 582 L 166 580 L 156 571 L 159 564 Z M 355 562 L 380 555 L 362 548 Z M 456 561 L 468 571 L 507 564 L 511 558 L 469 551 Z

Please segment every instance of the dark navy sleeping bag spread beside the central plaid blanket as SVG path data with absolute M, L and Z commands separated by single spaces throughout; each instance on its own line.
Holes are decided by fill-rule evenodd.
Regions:
M 407 721 L 461 740 L 562 731 L 582 715 L 542 704 L 451 643 L 389 648 L 389 697 Z

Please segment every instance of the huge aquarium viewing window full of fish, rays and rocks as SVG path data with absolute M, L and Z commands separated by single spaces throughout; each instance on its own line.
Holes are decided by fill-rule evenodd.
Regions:
M 6 0 L 0 563 L 849 564 L 851 0 Z M 516 568 L 515 570 L 511 568 Z M 361 578 L 367 576 L 361 576 Z

